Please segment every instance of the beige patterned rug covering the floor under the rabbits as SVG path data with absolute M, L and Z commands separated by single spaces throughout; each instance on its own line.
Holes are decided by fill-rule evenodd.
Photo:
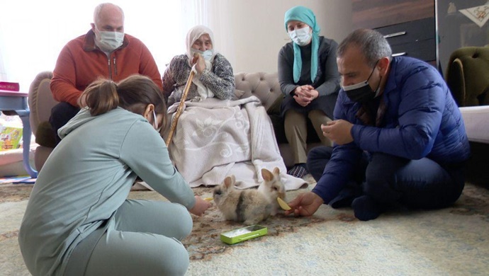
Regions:
M 2 276 L 29 275 L 17 234 L 30 189 L 0 185 Z M 194 191 L 208 197 L 212 188 Z M 130 197 L 164 200 L 150 191 Z M 242 224 L 225 222 L 216 207 L 193 219 L 193 233 L 183 241 L 191 258 L 187 275 L 489 274 L 489 190 L 471 184 L 453 207 L 389 212 L 370 222 L 359 222 L 350 208 L 327 205 L 313 217 L 278 215 L 262 223 L 268 235 L 233 246 L 219 235 Z

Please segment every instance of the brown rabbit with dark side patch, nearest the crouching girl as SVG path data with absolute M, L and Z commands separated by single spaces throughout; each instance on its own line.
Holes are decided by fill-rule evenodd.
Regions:
M 256 189 L 237 190 L 235 182 L 235 176 L 227 176 L 214 188 L 214 202 L 224 218 L 247 225 L 267 219 L 271 211 L 269 198 Z

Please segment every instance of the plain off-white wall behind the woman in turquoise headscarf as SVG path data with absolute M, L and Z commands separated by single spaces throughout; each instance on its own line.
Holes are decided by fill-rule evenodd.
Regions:
M 288 35 L 283 23 L 285 12 L 293 6 L 307 6 L 316 16 L 320 35 L 341 42 L 352 31 L 352 0 L 225 0 L 230 13 L 220 18 L 228 28 L 215 33 L 216 47 L 230 60 L 235 74 L 275 72 L 277 56 Z M 213 30 L 222 28 L 210 25 Z M 218 37 L 220 35 L 220 37 Z M 220 48 L 227 41 L 233 49 Z

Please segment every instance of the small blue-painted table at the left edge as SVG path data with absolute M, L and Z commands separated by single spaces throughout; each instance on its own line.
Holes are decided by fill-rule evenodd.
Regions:
M 0 112 L 5 115 L 18 115 L 22 120 L 22 159 L 23 166 L 31 178 L 38 177 L 38 171 L 30 166 L 29 149 L 30 149 L 30 122 L 29 106 L 27 104 L 28 93 L 0 91 Z

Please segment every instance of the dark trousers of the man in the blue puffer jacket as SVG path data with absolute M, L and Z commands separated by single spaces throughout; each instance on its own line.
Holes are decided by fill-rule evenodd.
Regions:
M 332 148 L 328 146 L 318 146 L 309 152 L 308 171 L 316 181 L 321 178 L 331 154 Z M 352 176 L 352 183 L 361 195 L 369 195 L 384 205 L 446 207 L 461 195 L 463 166 L 448 168 L 428 158 L 410 160 L 382 153 L 372 154 L 371 159 L 367 159 L 364 154 Z M 352 183 L 348 183 L 345 187 L 348 191 L 342 191 L 340 195 L 358 196 Z

